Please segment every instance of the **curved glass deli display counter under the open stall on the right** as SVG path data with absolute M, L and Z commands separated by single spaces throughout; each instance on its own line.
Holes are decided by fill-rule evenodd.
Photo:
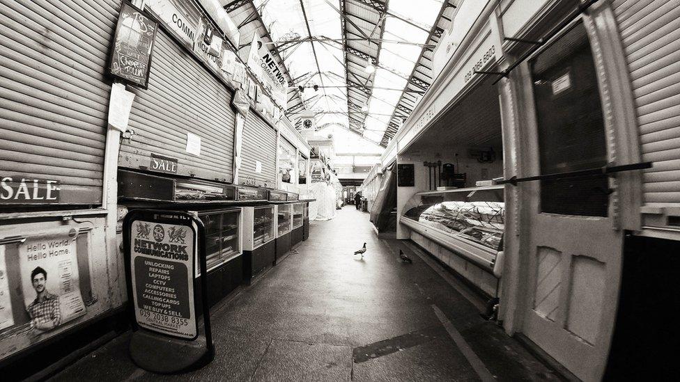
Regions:
M 503 186 L 416 193 L 401 223 L 468 260 L 493 270 L 503 250 Z

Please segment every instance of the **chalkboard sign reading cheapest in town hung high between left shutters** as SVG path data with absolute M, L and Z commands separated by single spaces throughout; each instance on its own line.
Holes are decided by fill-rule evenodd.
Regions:
M 109 62 L 111 74 L 146 89 L 157 29 L 157 22 L 123 1 Z

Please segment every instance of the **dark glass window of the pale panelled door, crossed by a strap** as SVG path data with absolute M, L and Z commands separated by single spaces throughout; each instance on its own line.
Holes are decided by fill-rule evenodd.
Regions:
M 578 24 L 531 62 L 541 174 L 607 164 L 604 122 L 592 51 Z M 541 212 L 607 216 L 608 179 L 541 181 Z

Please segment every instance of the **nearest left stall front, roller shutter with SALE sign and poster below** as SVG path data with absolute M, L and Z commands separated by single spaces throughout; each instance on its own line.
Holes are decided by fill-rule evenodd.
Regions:
M 107 57 L 120 10 L 116 0 L 0 3 L 3 379 L 29 379 L 69 356 L 79 340 L 102 335 L 98 325 L 123 305 L 107 221 L 115 207 L 105 198 L 105 179 L 115 174 Z M 33 303 L 31 281 L 41 278 L 61 301 L 56 324 L 43 323 L 48 312 Z

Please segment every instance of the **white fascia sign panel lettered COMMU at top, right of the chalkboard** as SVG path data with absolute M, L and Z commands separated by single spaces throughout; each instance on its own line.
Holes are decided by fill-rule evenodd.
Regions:
M 146 0 L 146 7 L 188 48 L 194 50 L 200 11 L 190 1 Z

